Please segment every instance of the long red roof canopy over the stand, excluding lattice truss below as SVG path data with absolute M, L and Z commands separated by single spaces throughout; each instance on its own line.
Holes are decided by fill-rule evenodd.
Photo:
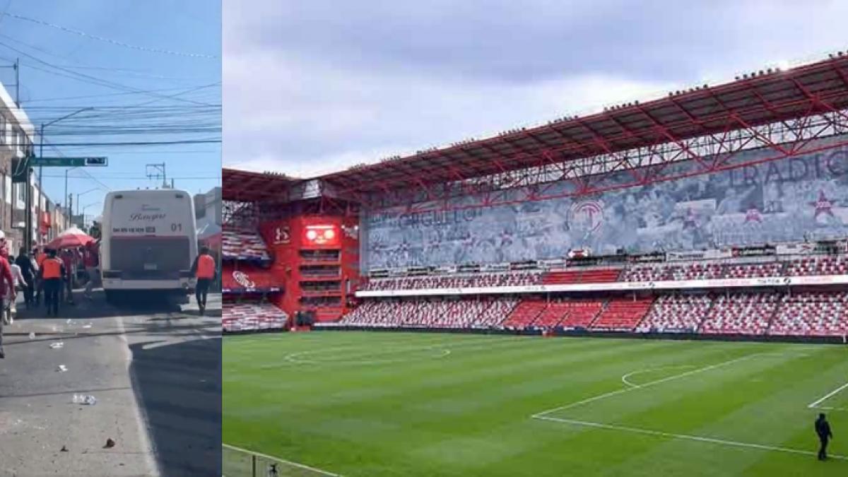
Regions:
M 387 193 L 563 163 L 848 108 L 848 56 L 457 143 L 320 177 L 339 194 Z

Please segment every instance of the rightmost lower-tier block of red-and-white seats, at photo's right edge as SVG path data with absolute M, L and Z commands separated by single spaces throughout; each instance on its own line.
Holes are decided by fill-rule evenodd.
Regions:
M 848 293 L 784 295 L 768 334 L 844 336 L 848 334 Z

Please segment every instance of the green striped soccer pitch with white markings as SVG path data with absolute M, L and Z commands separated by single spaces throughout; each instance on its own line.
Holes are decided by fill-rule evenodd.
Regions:
M 259 334 L 223 372 L 224 441 L 262 476 L 848 475 L 843 345 Z

